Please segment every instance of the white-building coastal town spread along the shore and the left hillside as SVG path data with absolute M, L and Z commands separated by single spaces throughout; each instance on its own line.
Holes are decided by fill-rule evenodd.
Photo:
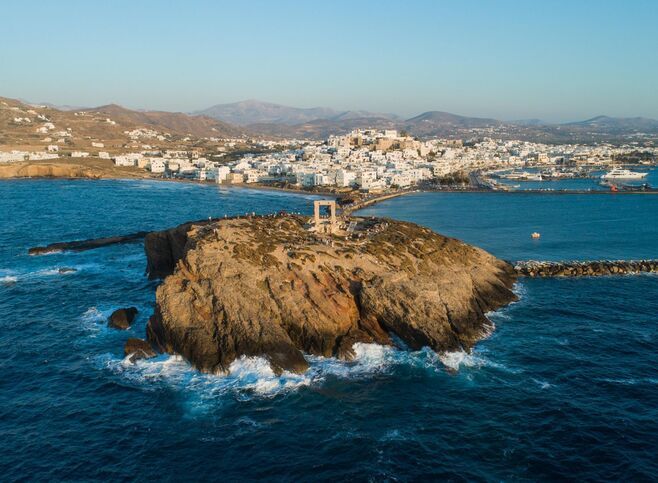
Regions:
M 647 169 L 656 164 L 658 154 L 653 143 L 639 140 L 544 144 L 494 139 L 480 132 L 463 140 L 421 139 L 396 129 L 355 129 L 324 140 L 194 137 L 155 128 L 125 129 L 120 117 L 124 113 L 113 109 L 117 120 L 105 111 L 75 111 L 66 113 L 62 124 L 56 120 L 60 111 L 2 102 L 0 113 L 10 116 L 12 129 L 30 149 L 19 143 L 11 146 L 15 149 L 5 146 L 0 165 L 102 160 L 158 179 L 377 194 L 416 188 L 513 191 L 523 181 L 601 177 L 621 165 Z M 216 128 L 210 129 L 212 133 Z M 643 177 L 625 172 L 617 183 L 621 187 L 624 176 Z M 610 181 L 601 184 L 610 187 Z

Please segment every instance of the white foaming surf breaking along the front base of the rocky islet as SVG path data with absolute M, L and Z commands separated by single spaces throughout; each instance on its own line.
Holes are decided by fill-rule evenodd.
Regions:
M 89 320 L 100 320 L 105 318 L 105 314 L 98 309 L 90 309 L 87 317 Z M 410 352 L 365 343 L 354 344 L 353 350 L 355 357 L 351 361 L 307 356 L 309 368 L 303 374 L 284 371 L 277 375 L 264 357 L 242 356 L 231 363 L 228 374 L 201 373 L 178 355 L 163 354 L 153 359 L 131 362 L 129 358 L 105 354 L 99 356 L 97 362 L 101 368 L 146 390 L 164 386 L 189 393 L 188 404 L 194 411 L 216 404 L 218 398 L 226 396 L 238 400 L 279 396 L 303 387 L 320 386 L 329 378 L 367 379 L 378 374 L 392 374 L 394 369 L 403 366 L 434 373 L 481 367 L 509 371 L 505 366 L 487 359 L 484 354 L 463 351 L 437 354 L 424 348 Z

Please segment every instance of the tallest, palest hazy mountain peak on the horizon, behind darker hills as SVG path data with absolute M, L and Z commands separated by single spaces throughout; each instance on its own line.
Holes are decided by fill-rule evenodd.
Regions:
M 231 104 L 217 104 L 208 109 L 197 111 L 194 114 L 209 116 L 240 126 L 250 124 L 284 124 L 294 126 L 319 119 L 342 121 L 364 117 L 395 117 L 393 115 L 374 114 L 367 111 L 336 111 L 328 107 L 289 107 L 253 99 Z

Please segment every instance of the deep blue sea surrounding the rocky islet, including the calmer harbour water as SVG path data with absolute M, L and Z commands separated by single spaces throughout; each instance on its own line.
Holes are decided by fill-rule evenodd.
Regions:
M 311 212 L 310 196 L 147 181 L 0 183 L 0 479 L 655 480 L 658 277 L 521 281 L 472 354 L 359 345 L 276 377 L 132 365 L 155 282 L 140 244 L 50 242 L 208 216 Z M 414 194 L 363 214 L 509 260 L 658 258 L 658 197 Z M 530 233 L 542 234 L 539 240 Z M 59 268 L 76 268 L 60 274 Z M 106 327 L 135 305 L 127 332 Z

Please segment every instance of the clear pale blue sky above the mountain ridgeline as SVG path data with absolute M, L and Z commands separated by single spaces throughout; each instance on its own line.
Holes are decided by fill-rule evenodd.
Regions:
M 0 0 L 0 96 L 658 118 L 658 1 Z

